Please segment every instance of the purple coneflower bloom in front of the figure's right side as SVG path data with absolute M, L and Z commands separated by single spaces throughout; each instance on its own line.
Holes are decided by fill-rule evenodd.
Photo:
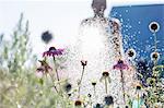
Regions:
M 116 69 L 116 70 L 128 70 L 129 67 L 122 60 L 118 60 L 117 64 L 114 65 L 114 69 Z

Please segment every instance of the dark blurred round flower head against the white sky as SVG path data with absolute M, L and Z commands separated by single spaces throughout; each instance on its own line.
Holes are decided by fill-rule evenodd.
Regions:
M 46 31 L 42 34 L 42 40 L 45 44 L 48 44 L 52 39 L 52 35 L 49 33 L 49 31 Z

